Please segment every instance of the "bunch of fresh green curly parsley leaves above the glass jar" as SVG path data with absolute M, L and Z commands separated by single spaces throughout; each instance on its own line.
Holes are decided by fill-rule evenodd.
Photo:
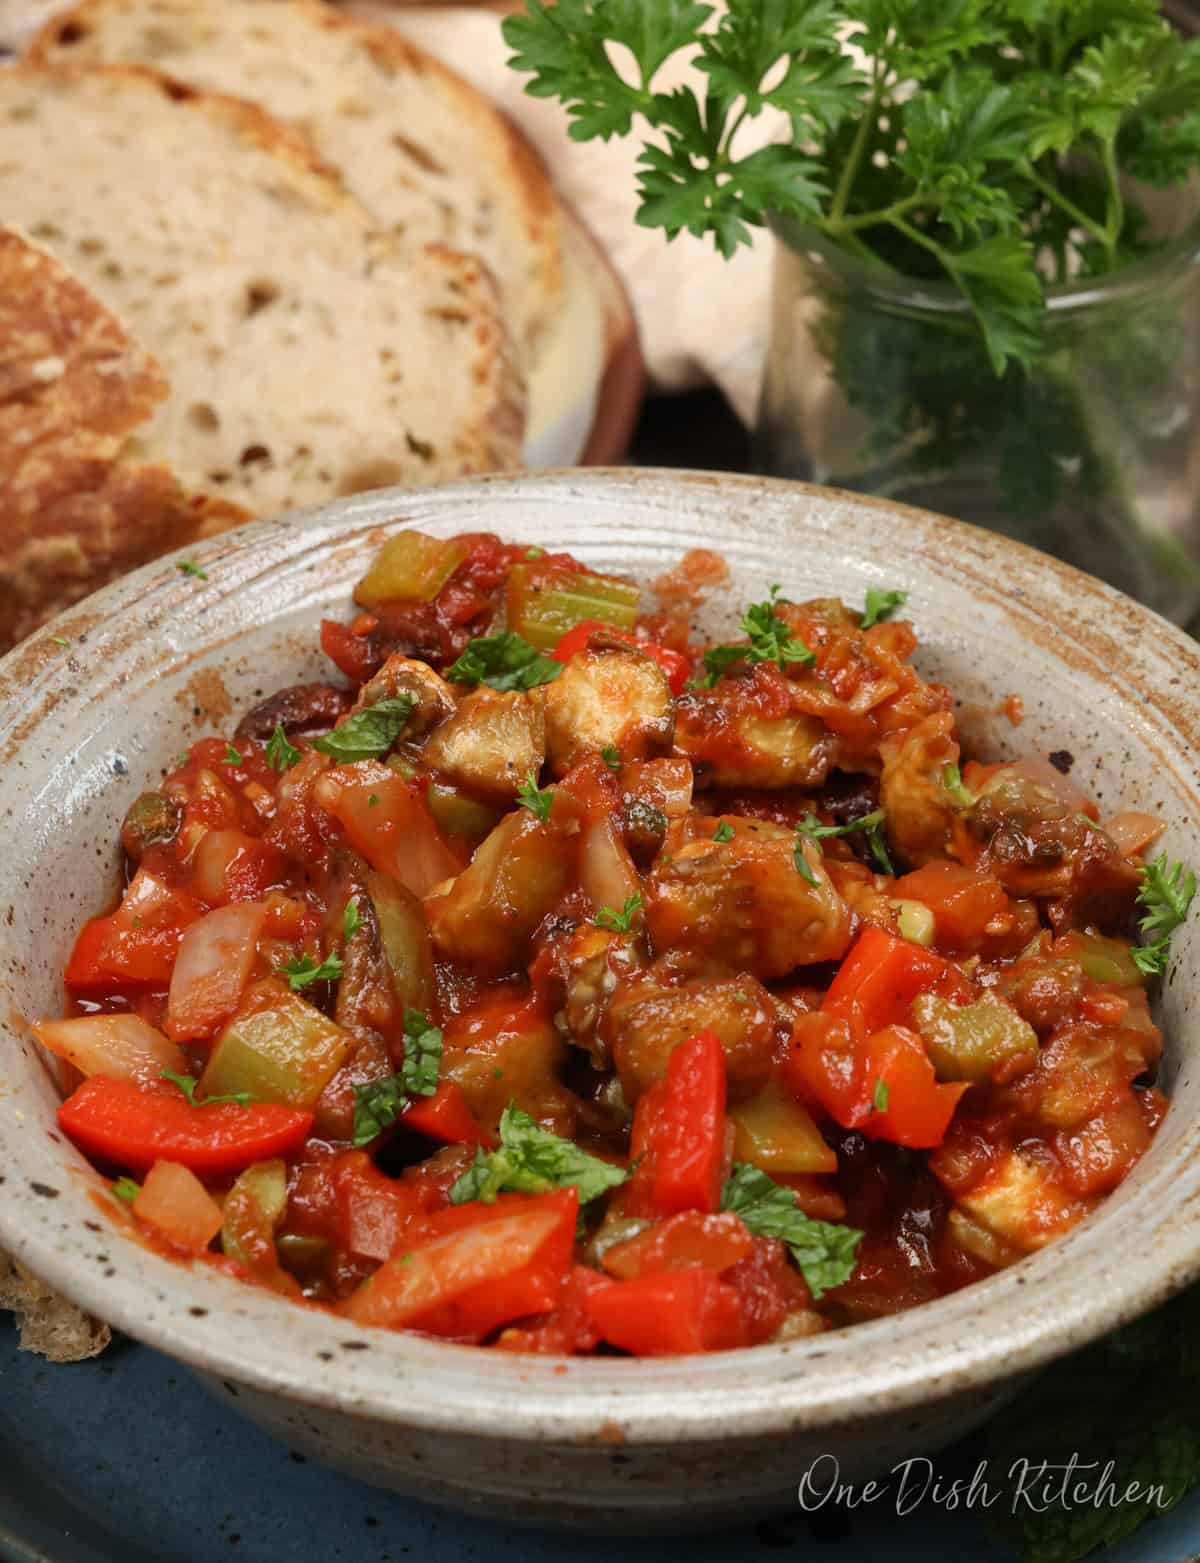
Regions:
M 641 224 L 731 255 L 772 214 L 948 280 L 997 375 L 1038 356 L 1047 277 L 1145 250 L 1122 173 L 1172 186 L 1200 166 L 1200 44 L 1156 0 L 728 0 L 719 19 L 695 0 L 530 0 L 505 38 L 573 139 L 648 133 Z M 703 91 L 658 84 L 678 55 Z M 739 152 L 764 109 L 791 138 Z

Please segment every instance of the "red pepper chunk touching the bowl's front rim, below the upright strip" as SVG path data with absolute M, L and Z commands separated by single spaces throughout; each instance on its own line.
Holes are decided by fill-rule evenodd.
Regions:
M 678 1357 L 745 1344 L 736 1288 L 700 1264 L 592 1286 L 588 1313 L 602 1339 L 636 1357 Z

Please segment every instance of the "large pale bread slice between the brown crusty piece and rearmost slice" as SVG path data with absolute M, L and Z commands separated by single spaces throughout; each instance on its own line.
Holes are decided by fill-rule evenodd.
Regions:
M 170 386 L 130 455 L 253 514 L 514 466 L 484 267 L 402 252 L 261 109 L 139 67 L 0 70 L 0 211 Z

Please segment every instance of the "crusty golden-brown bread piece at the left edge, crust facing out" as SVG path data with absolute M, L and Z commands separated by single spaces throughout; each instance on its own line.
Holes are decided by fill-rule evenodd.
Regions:
M 128 460 L 158 363 L 47 250 L 0 228 L 0 650 L 116 575 L 245 513 Z

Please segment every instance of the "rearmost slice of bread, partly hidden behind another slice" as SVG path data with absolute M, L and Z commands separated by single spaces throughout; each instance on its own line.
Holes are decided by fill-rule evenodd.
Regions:
M 528 366 L 562 305 L 553 188 L 486 97 L 388 27 L 320 0 L 83 0 L 38 34 L 41 63 L 147 64 L 298 125 L 386 230 L 495 274 Z

